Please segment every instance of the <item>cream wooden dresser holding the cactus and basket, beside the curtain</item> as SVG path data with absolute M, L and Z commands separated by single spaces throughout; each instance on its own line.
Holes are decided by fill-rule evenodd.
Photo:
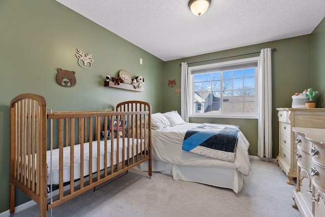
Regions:
M 297 144 L 293 127 L 325 128 L 325 108 L 277 108 L 279 117 L 279 155 L 276 158 L 280 168 L 288 177 L 288 184 L 297 177 Z

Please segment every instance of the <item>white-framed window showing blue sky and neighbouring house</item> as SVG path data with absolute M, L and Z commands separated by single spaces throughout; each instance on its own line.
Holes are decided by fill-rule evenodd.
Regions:
M 257 118 L 257 61 L 189 67 L 190 116 Z

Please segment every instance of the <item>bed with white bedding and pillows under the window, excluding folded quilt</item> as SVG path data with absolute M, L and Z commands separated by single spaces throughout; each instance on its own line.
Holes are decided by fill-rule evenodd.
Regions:
M 155 113 L 151 118 L 152 171 L 172 175 L 174 179 L 193 181 L 232 189 L 238 193 L 250 182 L 249 142 L 238 131 L 234 162 L 218 160 L 182 150 L 188 130 L 210 123 L 184 122 L 177 111 Z M 212 124 L 214 125 L 214 124 Z M 217 125 L 222 127 L 233 127 Z M 137 167 L 146 171 L 146 163 Z

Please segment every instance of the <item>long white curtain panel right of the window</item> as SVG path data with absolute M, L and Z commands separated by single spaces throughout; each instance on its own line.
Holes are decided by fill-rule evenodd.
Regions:
M 272 67 L 271 48 L 261 50 L 258 60 L 257 156 L 272 158 Z

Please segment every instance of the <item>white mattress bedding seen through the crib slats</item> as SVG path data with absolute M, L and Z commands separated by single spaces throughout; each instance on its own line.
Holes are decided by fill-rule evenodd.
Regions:
M 124 149 L 124 160 L 127 159 L 127 138 L 119 138 L 119 163 L 122 162 L 122 146 L 123 139 L 125 144 Z M 116 151 L 117 151 L 117 139 L 114 139 L 114 165 L 116 165 Z M 133 145 L 134 144 L 134 145 Z M 138 144 L 138 145 L 137 145 Z M 142 145 L 142 148 L 140 146 Z M 111 166 L 111 140 L 107 140 L 107 167 Z M 132 147 L 134 147 L 134 153 L 140 153 L 144 150 L 144 142 L 142 140 L 137 140 L 132 138 L 129 139 L 129 153 L 132 156 Z M 138 151 L 137 151 L 138 149 Z M 52 157 L 51 157 L 52 152 Z M 105 154 L 105 141 L 100 141 L 100 170 L 104 169 L 104 154 Z M 131 157 L 132 158 L 132 157 Z M 48 184 L 58 184 L 59 183 L 59 149 L 48 150 L 46 153 L 47 159 L 47 174 Z M 52 159 L 52 160 L 51 160 Z M 51 164 L 52 161 L 52 164 Z M 52 165 L 52 166 L 51 166 Z M 51 176 L 52 169 L 52 176 Z M 83 175 L 89 175 L 89 143 L 84 143 L 84 168 Z M 97 141 L 92 142 L 92 173 L 97 171 Z M 80 178 L 80 144 L 74 145 L 74 180 Z M 70 181 L 70 146 L 63 147 L 63 182 Z

